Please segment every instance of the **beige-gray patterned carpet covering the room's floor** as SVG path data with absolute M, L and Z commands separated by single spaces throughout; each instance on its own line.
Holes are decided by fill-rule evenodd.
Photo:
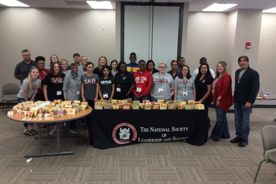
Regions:
M 216 119 L 213 108 L 209 108 L 209 117 L 210 134 Z M 227 117 L 234 138 L 234 114 L 228 113 Z M 36 157 L 26 167 L 24 155 L 37 152 L 38 141 L 23 135 L 23 125 L 1 112 L 0 184 L 253 183 L 263 159 L 260 130 L 265 125 L 276 125 L 275 117 L 275 109 L 253 109 L 249 145 L 245 148 L 221 139 L 201 147 L 177 141 L 100 150 L 89 145 L 82 125 L 76 138 L 61 138 L 62 151 L 74 150 L 75 155 Z M 68 133 L 68 127 L 65 130 Z M 55 151 L 56 140 L 43 140 L 42 146 L 44 152 Z M 276 184 L 275 171 L 275 165 L 263 163 L 256 183 Z

